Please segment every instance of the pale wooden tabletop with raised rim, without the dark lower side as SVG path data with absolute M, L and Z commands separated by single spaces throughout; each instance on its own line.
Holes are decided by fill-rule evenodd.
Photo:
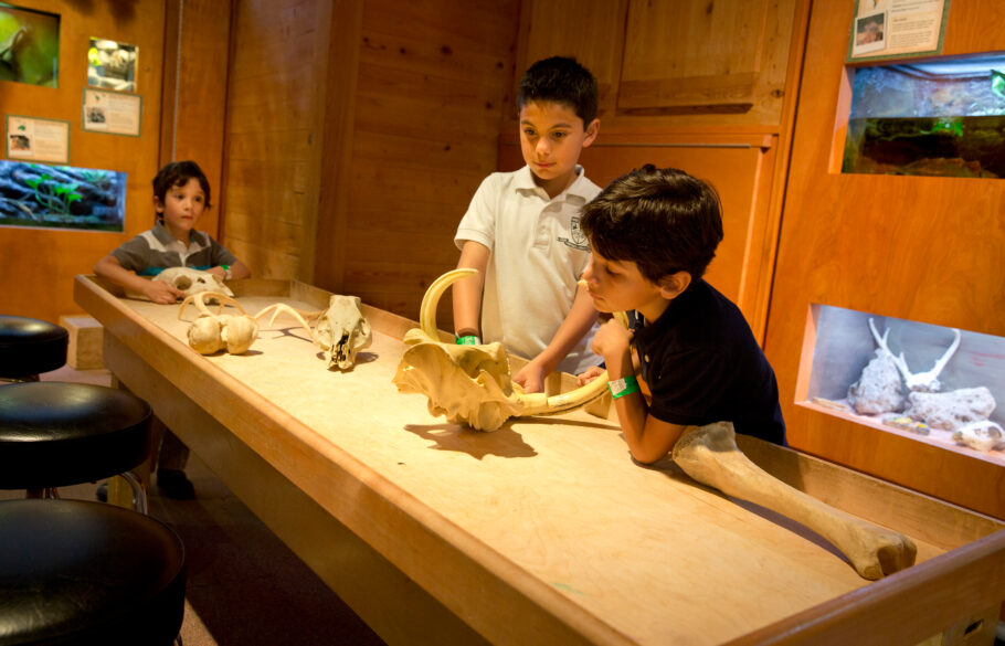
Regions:
M 299 284 L 245 283 L 239 300 L 252 314 L 277 301 L 318 309 L 324 297 Z M 393 315 L 368 309 L 372 346 L 355 369 L 338 372 L 325 368 L 289 317 L 260 321 L 246 354 L 202 357 L 184 341 L 194 308 L 179 320 L 177 306 L 119 298 L 85 276 L 76 298 L 108 333 L 493 642 L 558 644 L 574 635 L 596 644 L 723 644 L 877 585 L 795 523 L 699 486 L 669 462 L 636 465 L 614 422 L 572 412 L 480 433 L 432 417 L 423 396 L 400 394 L 391 381 L 410 325 Z M 813 479 L 807 458 L 796 464 L 782 455 L 792 452 L 753 442 L 748 454 L 762 466 L 780 454 L 779 465 L 795 465 L 790 478 Z M 1001 528 L 822 468 L 842 483 L 835 490 L 872 491 L 874 499 L 847 510 L 877 509 L 874 521 L 908 523 L 912 512 L 896 509 L 905 500 L 935 513 L 930 522 L 892 526 L 917 542 L 919 564 Z M 819 496 L 812 481 L 801 488 Z M 1005 534 L 996 534 L 1005 554 L 998 539 Z

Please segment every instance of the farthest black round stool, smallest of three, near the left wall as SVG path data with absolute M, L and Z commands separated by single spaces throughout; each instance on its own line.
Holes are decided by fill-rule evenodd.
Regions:
M 70 332 L 57 325 L 0 316 L 0 380 L 38 381 L 39 374 L 66 363 Z

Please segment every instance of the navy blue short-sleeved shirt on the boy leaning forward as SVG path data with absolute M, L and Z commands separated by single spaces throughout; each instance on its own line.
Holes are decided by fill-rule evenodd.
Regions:
M 774 371 L 736 305 L 697 280 L 655 321 L 634 314 L 650 415 L 685 426 L 732 422 L 737 433 L 785 445 Z

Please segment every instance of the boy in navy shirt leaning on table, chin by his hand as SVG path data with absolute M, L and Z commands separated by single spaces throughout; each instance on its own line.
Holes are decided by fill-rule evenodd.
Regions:
M 774 371 L 739 308 L 701 278 L 722 240 L 715 190 L 647 165 L 586 204 L 581 226 L 596 309 L 635 319 L 632 331 L 612 319 L 593 339 L 635 459 L 656 462 L 687 426 L 720 421 L 784 445 Z

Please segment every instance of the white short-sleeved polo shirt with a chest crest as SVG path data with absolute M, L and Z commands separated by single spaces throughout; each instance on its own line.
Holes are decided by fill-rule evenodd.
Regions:
M 482 340 L 501 341 L 510 352 L 532 359 L 551 342 L 575 298 L 590 246 L 580 230 L 580 211 L 601 189 L 576 167 L 576 180 L 550 199 L 533 183 L 530 168 L 496 172 L 482 182 L 461 220 L 454 244 L 468 240 L 491 254 L 482 298 Z M 596 326 L 558 369 L 579 373 L 602 359 L 590 350 Z

